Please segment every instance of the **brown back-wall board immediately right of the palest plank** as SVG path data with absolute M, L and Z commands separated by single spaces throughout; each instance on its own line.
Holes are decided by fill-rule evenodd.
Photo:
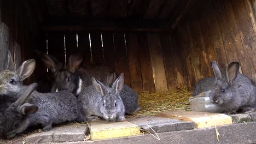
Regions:
M 175 58 L 177 57 L 174 56 L 178 55 L 178 53 L 173 52 L 173 49 L 177 49 L 177 47 L 172 47 L 168 34 L 159 34 L 159 40 L 162 48 L 162 58 L 164 59 L 167 86 L 168 88 L 177 87 L 178 79 L 176 69 L 174 67 L 176 67 L 176 61 L 178 59 L 176 60 Z

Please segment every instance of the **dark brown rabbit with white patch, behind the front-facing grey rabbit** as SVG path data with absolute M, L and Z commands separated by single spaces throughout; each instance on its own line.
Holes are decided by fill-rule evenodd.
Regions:
M 62 65 L 51 55 L 46 55 L 39 51 L 36 51 L 36 53 L 41 57 L 46 67 L 54 73 L 55 80 L 51 92 L 67 89 L 69 92 L 78 96 L 82 91 L 82 86 L 86 87 L 92 85 L 91 77 L 95 77 L 105 85 L 110 85 L 106 83 L 107 75 L 115 74 L 113 69 L 103 64 L 88 65 L 87 69 L 80 68 L 83 62 L 83 56 L 81 55 L 69 56 L 67 65 Z M 115 79 L 113 79 L 111 83 L 113 83 Z

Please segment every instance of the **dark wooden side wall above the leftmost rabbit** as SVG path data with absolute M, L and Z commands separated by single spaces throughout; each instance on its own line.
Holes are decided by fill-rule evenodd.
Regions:
M 38 45 L 36 17 L 28 1 L 19 0 L 0 0 L 0 15 L 0 57 L 5 57 L 4 51 L 9 49 L 17 69 L 21 62 L 33 57 L 32 49 Z M 1 58 L 0 66 L 3 63 Z M 33 79 L 34 75 L 25 83 Z

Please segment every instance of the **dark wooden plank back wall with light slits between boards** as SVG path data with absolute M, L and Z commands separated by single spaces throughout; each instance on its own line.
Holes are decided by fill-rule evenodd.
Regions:
M 176 39 L 168 33 L 83 31 L 67 34 L 50 31 L 47 35 L 48 53 L 62 63 L 65 63 L 65 48 L 66 61 L 70 53 L 82 51 L 84 69 L 88 64 L 104 63 L 118 74 L 124 73 L 125 84 L 136 91 L 154 92 L 184 85 L 185 71 L 179 61 Z M 55 44 L 56 40 L 60 42 Z M 56 50 L 58 52 L 53 52 Z

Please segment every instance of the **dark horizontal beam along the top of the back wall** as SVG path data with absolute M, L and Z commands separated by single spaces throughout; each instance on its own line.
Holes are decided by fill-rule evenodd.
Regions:
M 153 20 L 67 20 L 47 22 L 40 28 L 44 31 L 153 31 L 167 32 L 166 21 Z

